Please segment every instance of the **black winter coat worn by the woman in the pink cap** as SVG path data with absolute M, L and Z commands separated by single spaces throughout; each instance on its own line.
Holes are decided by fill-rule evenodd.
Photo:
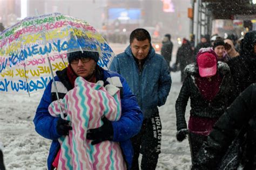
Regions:
M 218 62 L 217 73 L 223 77 L 220 90 L 212 101 L 207 101 L 201 94 L 195 83 L 196 76 L 199 76 L 198 66 L 193 63 L 185 68 L 187 74 L 183 86 L 180 89 L 176 101 L 177 130 L 187 129 L 185 111 L 188 98 L 190 98 L 190 115 L 202 118 L 219 118 L 225 109 L 234 100 L 232 79 L 230 69 L 226 63 Z

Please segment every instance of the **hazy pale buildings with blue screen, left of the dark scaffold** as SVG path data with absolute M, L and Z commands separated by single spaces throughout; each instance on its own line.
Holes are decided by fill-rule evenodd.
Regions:
M 27 16 L 60 12 L 86 20 L 112 42 L 126 43 L 137 27 L 156 41 L 166 33 L 176 41 L 189 37 L 190 6 L 190 0 L 0 0 L 0 23 L 9 27 Z

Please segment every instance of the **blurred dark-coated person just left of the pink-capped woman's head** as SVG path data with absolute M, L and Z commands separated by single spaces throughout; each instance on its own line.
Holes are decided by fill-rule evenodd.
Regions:
M 176 66 L 179 65 L 181 71 L 181 82 L 184 82 L 185 79 L 185 70 L 184 68 L 193 62 L 193 50 L 190 45 L 190 42 L 187 39 L 183 39 L 182 45 L 179 47 L 176 56 Z

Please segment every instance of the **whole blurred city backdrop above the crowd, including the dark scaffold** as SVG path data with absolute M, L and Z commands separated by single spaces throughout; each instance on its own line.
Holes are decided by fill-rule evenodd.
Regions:
M 127 43 L 132 30 L 144 27 L 157 44 L 170 33 L 175 46 L 190 34 L 197 44 L 205 34 L 242 37 L 256 30 L 255 5 L 256 0 L 0 0 L 0 25 L 60 12 L 86 20 L 110 42 Z

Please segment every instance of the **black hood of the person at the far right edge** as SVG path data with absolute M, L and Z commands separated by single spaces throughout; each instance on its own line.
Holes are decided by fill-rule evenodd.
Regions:
M 241 42 L 241 52 L 242 56 L 253 57 L 254 54 L 254 43 L 256 43 L 256 31 L 250 31 L 245 34 L 244 39 Z

